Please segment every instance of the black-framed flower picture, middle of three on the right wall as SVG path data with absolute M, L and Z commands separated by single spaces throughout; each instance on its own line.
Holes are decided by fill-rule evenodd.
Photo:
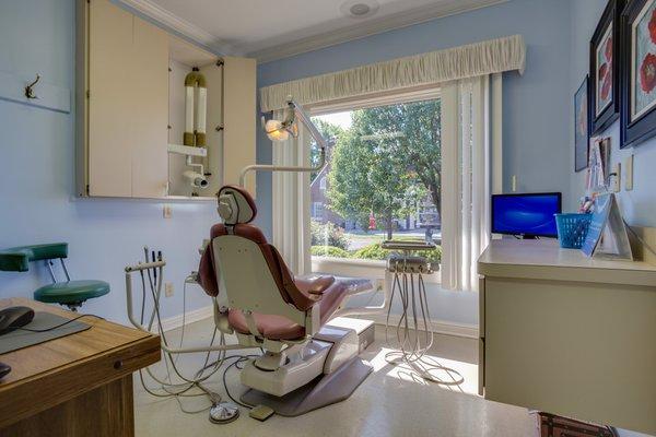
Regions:
M 624 0 L 610 0 L 590 40 L 591 133 L 607 129 L 620 115 L 620 16 Z

